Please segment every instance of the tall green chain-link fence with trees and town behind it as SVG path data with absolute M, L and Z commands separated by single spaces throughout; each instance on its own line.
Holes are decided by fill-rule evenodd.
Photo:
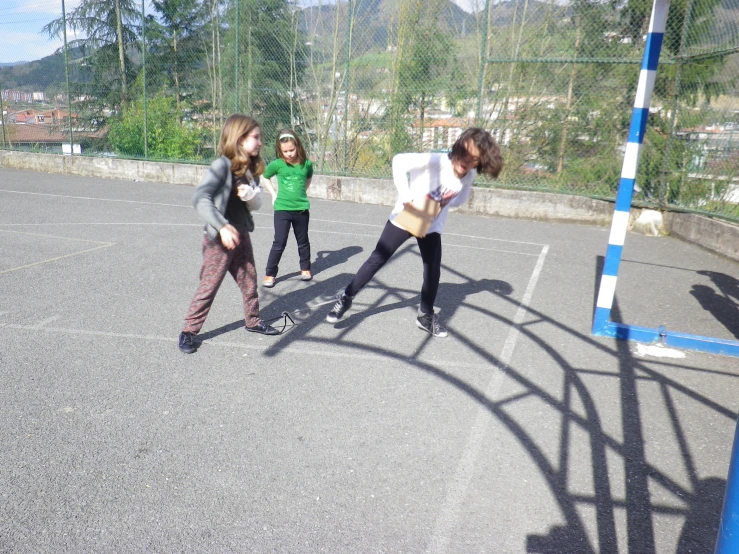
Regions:
M 268 159 L 292 127 L 319 172 L 387 177 L 479 125 L 495 186 L 615 196 L 649 0 L 312 4 L 76 0 L 25 23 L 67 47 L 0 68 L 2 146 L 205 162 L 241 111 Z M 738 27 L 738 0 L 671 3 L 637 201 L 739 221 Z

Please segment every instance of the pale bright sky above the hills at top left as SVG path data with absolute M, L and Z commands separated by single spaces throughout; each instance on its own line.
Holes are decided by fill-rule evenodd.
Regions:
M 476 2 L 484 5 L 484 0 L 453 2 L 467 11 L 471 11 Z M 67 13 L 79 3 L 80 0 L 65 0 Z M 301 0 L 299 3 L 307 6 L 317 1 Z M 0 63 L 37 60 L 54 53 L 62 46 L 61 37 L 49 39 L 41 34 L 41 28 L 61 13 L 62 0 L 0 0 Z M 73 38 L 67 35 L 68 40 Z

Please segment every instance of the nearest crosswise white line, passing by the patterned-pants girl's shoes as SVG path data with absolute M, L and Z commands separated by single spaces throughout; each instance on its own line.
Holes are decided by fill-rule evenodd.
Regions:
M 42 321 L 40 323 L 37 323 L 35 325 L 19 325 L 16 323 L 0 323 L 0 328 L 4 329 L 18 329 L 22 331 L 41 331 L 44 333 L 59 333 L 64 335 L 77 335 L 77 336 L 94 336 L 94 337 L 110 337 L 110 338 L 120 338 L 120 339 L 134 339 L 134 340 L 146 340 L 146 341 L 152 341 L 152 342 L 170 342 L 170 343 L 176 343 L 179 339 L 176 337 L 163 337 L 160 335 L 136 335 L 132 333 L 114 333 L 112 331 L 90 331 L 85 329 L 65 329 L 63 327 L 46 327 L 45 324 L 49 323 L 50 321 L 53 321 L 54 319 L 57 319 L 59 316 L 50 318 L 50 320 Z M 265 350 L 269 350 L 269 346 L 265 346 L 263 344 L 257 345 L 257 344 L 244 344 L 241 342 L 228 342 L 228 341 L 214 341 L 213 339 L 207 339 L 202 342 L 202 344 L 208 344 L 210 346 L 217 346 L 219 348 L 231 348 L 231 349 L 237 349 L 237 350 L 257 350 L 264 352 Z M 341 343 L 339 343 L 341 344 Z M 353 348 L 352 346 L 348 346 L 347 348 Z M 388 363 L 388 357 L 383 356 L 380 354 L 357 354 L 353 352 L 346 352 L 344 349 L 341 349 L 340 352 L 332 352 L 329 350 L 326 350 L 325 348 L 320 349 L 308 349 L 308 348 L 296 348 L 292 346 L 288 346 L 286 348 L 280 348 L 279 353 L 285 353 L 290 355 L 300 355 L 300 356 L 323 356 L 327 358 L 351 358 L 353 360 L 363 360 L 363 361 L 370 361 L 370 362 L 376 362 L 376 363 L 382 363 L 387 364 Z M 430 357 L 428 360 L 425 360 L 423 358 L 417 358 L 417 357 L 404 357 L 399 358 L 396 360 L 399 363 L 422 363 L 422 364 L 430 364 L 438 367 L 457 367 L 457 368 L 463 368 L 463 369 L 476 369 L 476 370 L 489 370 L 490 364 L 471 364 L 471 363 L 465 363 L 465 362 L 459 362 L 455 360 L 440 360 L 438 357 L 433 356 Z

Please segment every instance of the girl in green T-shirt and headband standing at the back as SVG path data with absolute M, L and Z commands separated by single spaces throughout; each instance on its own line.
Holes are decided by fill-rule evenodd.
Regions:
M 283 129 L 277 134 L 275 146 L 277 159 L 267 166 L 264 172 L 264 186 L 272 195 L 275 208 L 275 239 L 267 260 L 264 286 L 275 286 L 278 265 L 287 245 L 290 226 L 298 242 L 300 256 L 300 278 L 313 279 L 310 271 L 310 241 L 308 223 L 310 221 L 310 201 L 306 191 L 313 177 L 313 163 L 306 157 L 305 149 L 294 131 Z M 277 191 L 269 179 L 277 176 Z

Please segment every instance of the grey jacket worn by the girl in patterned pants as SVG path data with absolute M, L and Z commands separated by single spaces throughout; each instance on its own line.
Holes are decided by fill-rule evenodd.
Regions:
M 205 232 L 211 240 L 215 240 L 221 227 L 228 223 L 225 214 L 232 179 L 231 160 L 221 156 L 210 164 L 192 196 L 192 205 L 205 221 Z

